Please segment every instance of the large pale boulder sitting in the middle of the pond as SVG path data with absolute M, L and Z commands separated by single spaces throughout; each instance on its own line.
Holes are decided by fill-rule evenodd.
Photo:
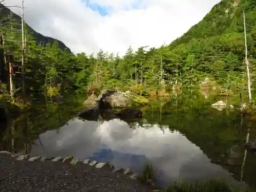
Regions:
M 97 102 L 100 102 L 100 108 L 110 109 L 110 108 L 124 108 L 132 105 L 147 104 L 148 100 L 142 96 L 137 96 L 135 94 L 124 93 L 115 90 L 104 90 L 100 93 L 98 98 L 95 95 L 91 95 L 86 101 L 84 101 L 87 106 L 96 107 Z

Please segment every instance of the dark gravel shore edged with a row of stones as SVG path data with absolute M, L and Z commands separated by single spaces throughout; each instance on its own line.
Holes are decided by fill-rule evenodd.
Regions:
M 151 191 L 137 180 L 108 168 L 78 163 L 28 160 L 0 155 L 0 191 Z

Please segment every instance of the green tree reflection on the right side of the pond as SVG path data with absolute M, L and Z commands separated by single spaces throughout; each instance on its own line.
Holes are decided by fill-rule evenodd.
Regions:
M 241 180 L 241 166 L 247 155 L 244 163 L 246 165 L 243 165 L 243 178 L 253 183 L 255 179 L 251 176 L 256 173 L 252 168 L 256 167 L 255 155 L 240 154 L 236 160 L 236 162 L 239 161 L 239 166 L 238 164 L 224 166 L 230 159 L 227 151 L 231 146 L 245 142 L 247 127 L 245 123 L 242 127 L 240 126 L 240 111 L 227 109 L 219 112 L 210 109 L 210 105 L 220 99 L 220 96 L 211 95 L 205 100 L 204 96 L 197 92 L 188 92 L 188 94 L 184 92 L 182 95 L 170 98 L 170 101 L 163 105 L 159 100 L 159 104 L 148 106 L 144 109 L 143 117 L 147 119 L 148 124 L 159 124 L 163 130 L 166 128 L 162 125 L 168 125 L 169 130 L 177 130 L 184 134 L 187 139 L 199 146 L 209 159 L 233 173 L 233 177 L 237 180 Z M 233 96 L 227 99 L 233 105 L 240 103 L 239 97 Z M 142 127 L 144 126 L 146 127 L 146 125 Z M 256 130 L 251 129 L 250 133 L 252 136 Z

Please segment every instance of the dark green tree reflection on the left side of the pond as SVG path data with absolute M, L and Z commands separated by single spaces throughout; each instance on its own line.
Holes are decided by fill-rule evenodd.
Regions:
M 80 103 L 75 99 L 62 102 L 31 100 L 31 105 L 15 119 L 8 119 L 3 133 L 3 150 L 29 153 L 31 144 L 40 133 L 59 129 L 79 111 Z M 33 103 L 35 102 L 35 103 Z

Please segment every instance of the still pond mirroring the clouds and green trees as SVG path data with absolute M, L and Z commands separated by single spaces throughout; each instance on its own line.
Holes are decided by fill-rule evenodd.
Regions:
M 247 136 L 240 111 L 222 111 L 211 104 L 225 99 L 239 105 L 239 94 L 221 98 L 198 91 L 152 99 L 144 106 L 143 119 L 86 121 L 76 116 L 83 95 L 63 95 L 59 100 L 32 100 L 31 109 L 7 123 L 0 150 L 26 151 L 33 156 L 68 156 L 110 162 L 141 173 L 151 162 L 158 183 L 224 178 L 252 185 L 256 182 L 256 155 L 240 144 Z M 246 98 L 243 98 L 246 100 Z M 39 102 L 40 100 L 40 102 Z M 252 126 L 253 127 L 253 126 Z M 255 130 L 250 130 L 250 139 Z

